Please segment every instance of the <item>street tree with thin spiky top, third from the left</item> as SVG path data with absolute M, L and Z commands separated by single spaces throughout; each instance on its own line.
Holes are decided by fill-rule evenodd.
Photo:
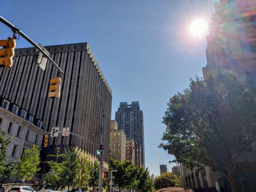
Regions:
M 61 158 L 63 158 L 64 154 L 60 154 L 59 147 L 56 149 L 56 155 L 49 155 L 51 160 L 45 162 L 49 165 L 50 171 L 45 175 L 44 181 L 46 181 L 48 185 L 52 186 L 61 184 L 61 176 L 64 171 L 64 163 L 61 161 Z

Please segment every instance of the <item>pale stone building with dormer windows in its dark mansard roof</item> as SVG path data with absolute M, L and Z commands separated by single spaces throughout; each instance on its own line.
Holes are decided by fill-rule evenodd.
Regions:
M 32 123 L 32 121 L 34 123 Z M 19 108 L 7 99 L 0 98 L 0 131 L 6 132 L 6 138 L 12 138 L 7 148 L 7 161 L 17 161 L 24 150 L 38 145 L 41 150 L 43 135 L 42 121 L 32 119 L 29 111 Z

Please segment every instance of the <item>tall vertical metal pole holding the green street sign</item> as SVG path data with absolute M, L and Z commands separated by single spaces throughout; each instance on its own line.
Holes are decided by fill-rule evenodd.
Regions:
M 99 164 L 99 177 L 98 177 L 98 192 L 102 192 L 102 172 L 103 172 L 103 157 L 104 157 L 104 126 L 105 126 L 105 114 L 102 115 L 101 123 L 101 136 L 100 136 L 100 164 Z

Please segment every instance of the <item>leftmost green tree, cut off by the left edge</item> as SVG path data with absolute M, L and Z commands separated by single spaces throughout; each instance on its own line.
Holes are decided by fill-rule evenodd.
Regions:
M 10 178 L 14 170 L 14 162 L 7 163 L 6 150 L 11 138 L 5 138 L 6 132 L 0 132 L 0 178 Z

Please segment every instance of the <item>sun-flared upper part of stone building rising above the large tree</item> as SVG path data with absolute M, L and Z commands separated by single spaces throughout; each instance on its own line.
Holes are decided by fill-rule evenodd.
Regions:
M 256 86 L 256 1 L 220 0 L 215 3 L 207 39 L 207 66 L 236 72 L 240 81 Z

